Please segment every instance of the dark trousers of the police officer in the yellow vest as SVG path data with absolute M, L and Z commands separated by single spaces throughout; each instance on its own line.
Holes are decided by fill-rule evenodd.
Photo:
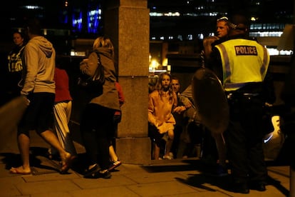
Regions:
M 229 96 L 230 123 L 224 132 L 234 183 L 264 183 L 263 101 L 257 95 Z

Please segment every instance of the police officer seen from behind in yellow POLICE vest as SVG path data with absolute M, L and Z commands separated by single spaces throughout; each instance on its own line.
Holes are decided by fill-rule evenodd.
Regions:
M 234 14 L 229 19 L 229 39 L 217 44 L 207 61 L 227 93 L 230 123 L 224 132 L 229 166 L 237 193 L 266 190 L 264 162 L 264 105 L 275 100 L 272 81 L 266 77 L 269 54 L 248 37 L 248 20 Z M 270 81 L 270 82 L 269 82 Z

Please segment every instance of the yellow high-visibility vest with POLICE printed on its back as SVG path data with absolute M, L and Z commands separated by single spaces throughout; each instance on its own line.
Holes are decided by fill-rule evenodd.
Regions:
M 248 39 L 231 39 L 216 45 L 222 59 L 225 91 L 242 88 L 249 82 L 262 82 L 269 67 L 269 52 Z

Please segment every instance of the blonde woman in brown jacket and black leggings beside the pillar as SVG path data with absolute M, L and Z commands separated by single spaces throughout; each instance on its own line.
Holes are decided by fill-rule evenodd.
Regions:
M 81 69 L 95 72 L 100 61 L 105 82 L 88 90 L 89 102 L 82 113 L 81 134 L 88 156 L 85 178 L 110 178 L 109 142 L 114 135 L 113 116 L 120 110 L 115 88 L 114 48 L 110 39 L 100 36 L 93 43 L 93 52 L 81 62 Z

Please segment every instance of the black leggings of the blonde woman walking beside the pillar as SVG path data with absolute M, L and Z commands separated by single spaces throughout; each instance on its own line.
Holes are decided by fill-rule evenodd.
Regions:
M 100 168 L 108 169 L 110 163 L 109 145 L 114 137 L 114 110 L 89 103 L 81 119 L 81 135 L 89 165 L 98 163 Z

